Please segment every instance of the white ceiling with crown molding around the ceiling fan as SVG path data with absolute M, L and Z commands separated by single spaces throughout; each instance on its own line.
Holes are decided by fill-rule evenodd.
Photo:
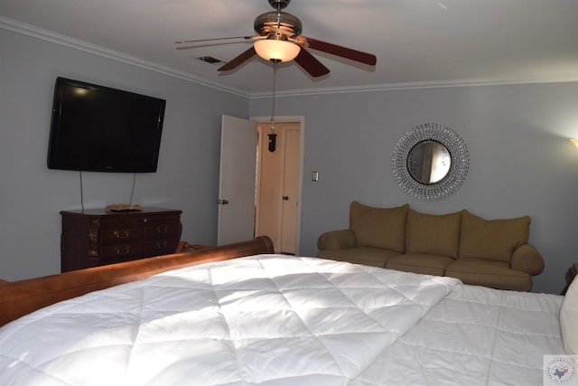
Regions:
M 0 0 L 0 27 L 251 97 L 271 92 L 270 63 L 255 57 L 218 73 L 195 59 L 230 61 L 250 42 L 174 42 L 252 35 L 255 17 L 270 11 L 267 0 Z M 301 19 L 303 35 L 374 53 L 378 64 L 311 50 L 331 73 L 313 79 L 283 64 L 279 93 L 578 80 L 577 0 L 293 0 L 284 11 Z

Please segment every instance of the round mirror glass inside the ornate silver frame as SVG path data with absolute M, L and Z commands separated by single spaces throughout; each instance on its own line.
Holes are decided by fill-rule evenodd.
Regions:
M 421 184 L 437 184 L 450 172 L 452 156 L 441 142 L 418 142 L 407 154 L 407 171 Z

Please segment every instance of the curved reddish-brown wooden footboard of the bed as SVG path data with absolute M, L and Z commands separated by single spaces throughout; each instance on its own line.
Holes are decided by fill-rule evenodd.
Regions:
M 148 278 L 171 269 L 260 253 L 275 253 L 273 241 L 267 236 L 221 247 L 79 269 L 42 278 L 3 282 L 0 283 L 0 326 L 44 306 L 98 289 Z

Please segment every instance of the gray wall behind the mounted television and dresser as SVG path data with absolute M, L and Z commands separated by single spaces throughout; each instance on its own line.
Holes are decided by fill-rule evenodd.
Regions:
M 166 99 L 158 171 L 133 203 L 182 210 L 185 240 L 216 242 L 221 114 L 248 99 L 0 29 L 0 278 L 60 272 L 60 211 L 80 209 L 79 173 L 46 166 L 56 77 Z M 134 174 L 83 173 L 85 208 L 130 200 Z

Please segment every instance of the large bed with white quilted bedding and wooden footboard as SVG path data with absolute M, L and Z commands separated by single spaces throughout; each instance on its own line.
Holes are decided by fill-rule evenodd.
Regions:
M 261 237 L 0 285 L 0 384 L 572 384 L 564 299 Z

